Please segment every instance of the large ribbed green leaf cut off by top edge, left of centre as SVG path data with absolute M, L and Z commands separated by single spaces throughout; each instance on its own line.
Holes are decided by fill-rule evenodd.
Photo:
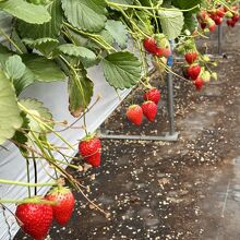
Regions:
M 76 28 L 86 32 L 100 32 L 107 21 L 104 0 L 62 0 L 68 21 Z

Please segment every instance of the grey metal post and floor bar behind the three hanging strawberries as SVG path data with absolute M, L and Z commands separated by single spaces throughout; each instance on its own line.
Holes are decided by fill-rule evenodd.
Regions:
M 172 67 L 172 56 L 168 59 L 168 67 Z M 164 135 L 115 135 L 111 131 L 100 132 L 101 139 L 110 140 L 142 140 L 142 141 L 177 141 L 179 133 L 175 131 L 175 101 L 173 101 L 173 79 L 172 73 L 167 73 L 167 86 L 168 86 L 168 118 L 169 118 L 169 132 Z

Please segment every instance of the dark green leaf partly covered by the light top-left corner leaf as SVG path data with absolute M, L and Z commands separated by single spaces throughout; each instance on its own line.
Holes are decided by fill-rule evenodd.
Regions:
M 17 21 L 16 29 L 23 38 L 57 38 L 60 35 L 63 21 L 63 11 L 60 0 L 55 0 L 47 8 L 51 20 L 45 24 L 36 25 Z

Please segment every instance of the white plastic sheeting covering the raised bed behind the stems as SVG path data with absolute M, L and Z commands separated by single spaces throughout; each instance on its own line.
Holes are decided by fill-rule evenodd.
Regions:
M 103 71 L 99 67 L 88 70 L 88 76 L 94 81 L 95 89 L 92 103 L 100 94 L 100 100 L 92 108 L 86 115 L 87 130 L 95 131 L 100 123 L 115 110 L 120 104 L 119 96 L 116 91 L 110 87 L 104 79 Z M 120 92 L 121 99 L 123 99 L 130 91 Z M 67 120 L 69 123 L 75 119 L 68 111 L 68 87 L 65 82 L 56 83 L 38 83 L 28 87 L 22 97 L 33 97 L 44 101 L 53 113 L 55 120 Z M 83 122 L 77 122 L 77 125 L 83 125 Z M 75 144 L 84 136 L 84 132 L 79 129 L 69 129 L 61 133 L 72 145 Z M 58 146 L 64 144 L 55 135 L 49 136 L 50 141 Z M 9 180 L 17 180 L 26 182 L 26 161 L 21 156 L 19 149 L 11 143 L 7 142 L 4 145 L 8 151 L 0 148 L 0 178 Z M 68 155 L 74 156 L 76 151 L 68 151 Z M 49 181 L 43 165 L 45 160 L 38 160 L 38 182 Z M 47 165 L 46 165 L 47 166 Z M 49 170 L 49 169 L 48 169 Z M 31 177 L 34 178 L 33 166 L 31 166 Z M 38 189 L 38 194 L 45 194 L 48 188 Z M 16 185 L 0 185 L 0 197 L 2 199 L 24 199 L 27 196 L 27 188 Z M 15 204 L 5 204 L 12 212 L 15 211 Z M 0 240 L 13 239 L 19 230 L 14 216 L 9 211 L 0 208 Z

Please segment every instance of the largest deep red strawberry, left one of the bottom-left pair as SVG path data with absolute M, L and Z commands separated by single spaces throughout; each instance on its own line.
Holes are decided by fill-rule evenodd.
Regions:
M 16 207 L 15 215 L 23 231 L 35 240 L 46 238 L 53 218 L 51 205 L 41 203 L 20 204 Z

